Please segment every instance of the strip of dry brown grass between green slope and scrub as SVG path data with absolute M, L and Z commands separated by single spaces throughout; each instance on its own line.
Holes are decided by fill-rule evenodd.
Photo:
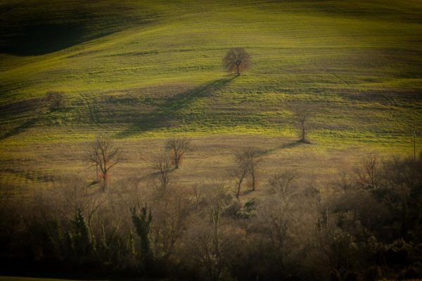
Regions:
M 164 148 L 165 141 L 158 138 L 115 141 L 115 145 L 122 148 L 124 159 L 110 170 L 110 186 L 154 185 L 153 157 Z M 87 141 L 16 147 L 8 152 L 13 159 L 0 164 L 1 181 L 48 188 L 60 178 L 76 174 L 88 184 L 96 178 L 95 166 L 87 158 L 88 145 Z M 180 185 L 217 181 L 225 182 L 234 190 L 234 181 L 229 175 L 229 169 L 236 164 L 234 152 L 248 146 L 255 146 L 264 153 L 257 169 L 257 191 L 247 192 L 246 181 L 242 187 L 243 198 L 263 195 L 268 178 L 283 171 L 293 171 L 299 182 L 328 192 L 340 171 L 352 171 L 369 152 L 364 147 L 321 147 L 318 143 L 297 143 L 283 137 L 203 136 L 192 138 L 180 169 L 172 171 L 171 177 Z

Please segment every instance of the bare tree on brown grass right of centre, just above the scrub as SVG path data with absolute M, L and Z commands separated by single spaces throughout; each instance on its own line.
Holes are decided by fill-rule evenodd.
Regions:
M 239 167 L 244 167 L 251 179 L 252 191 L 255 191 L 257 187 L 257 165 L 260 163 L 261 150 L 254 147 L 243 148 L 235 152 L 236 162 Z

